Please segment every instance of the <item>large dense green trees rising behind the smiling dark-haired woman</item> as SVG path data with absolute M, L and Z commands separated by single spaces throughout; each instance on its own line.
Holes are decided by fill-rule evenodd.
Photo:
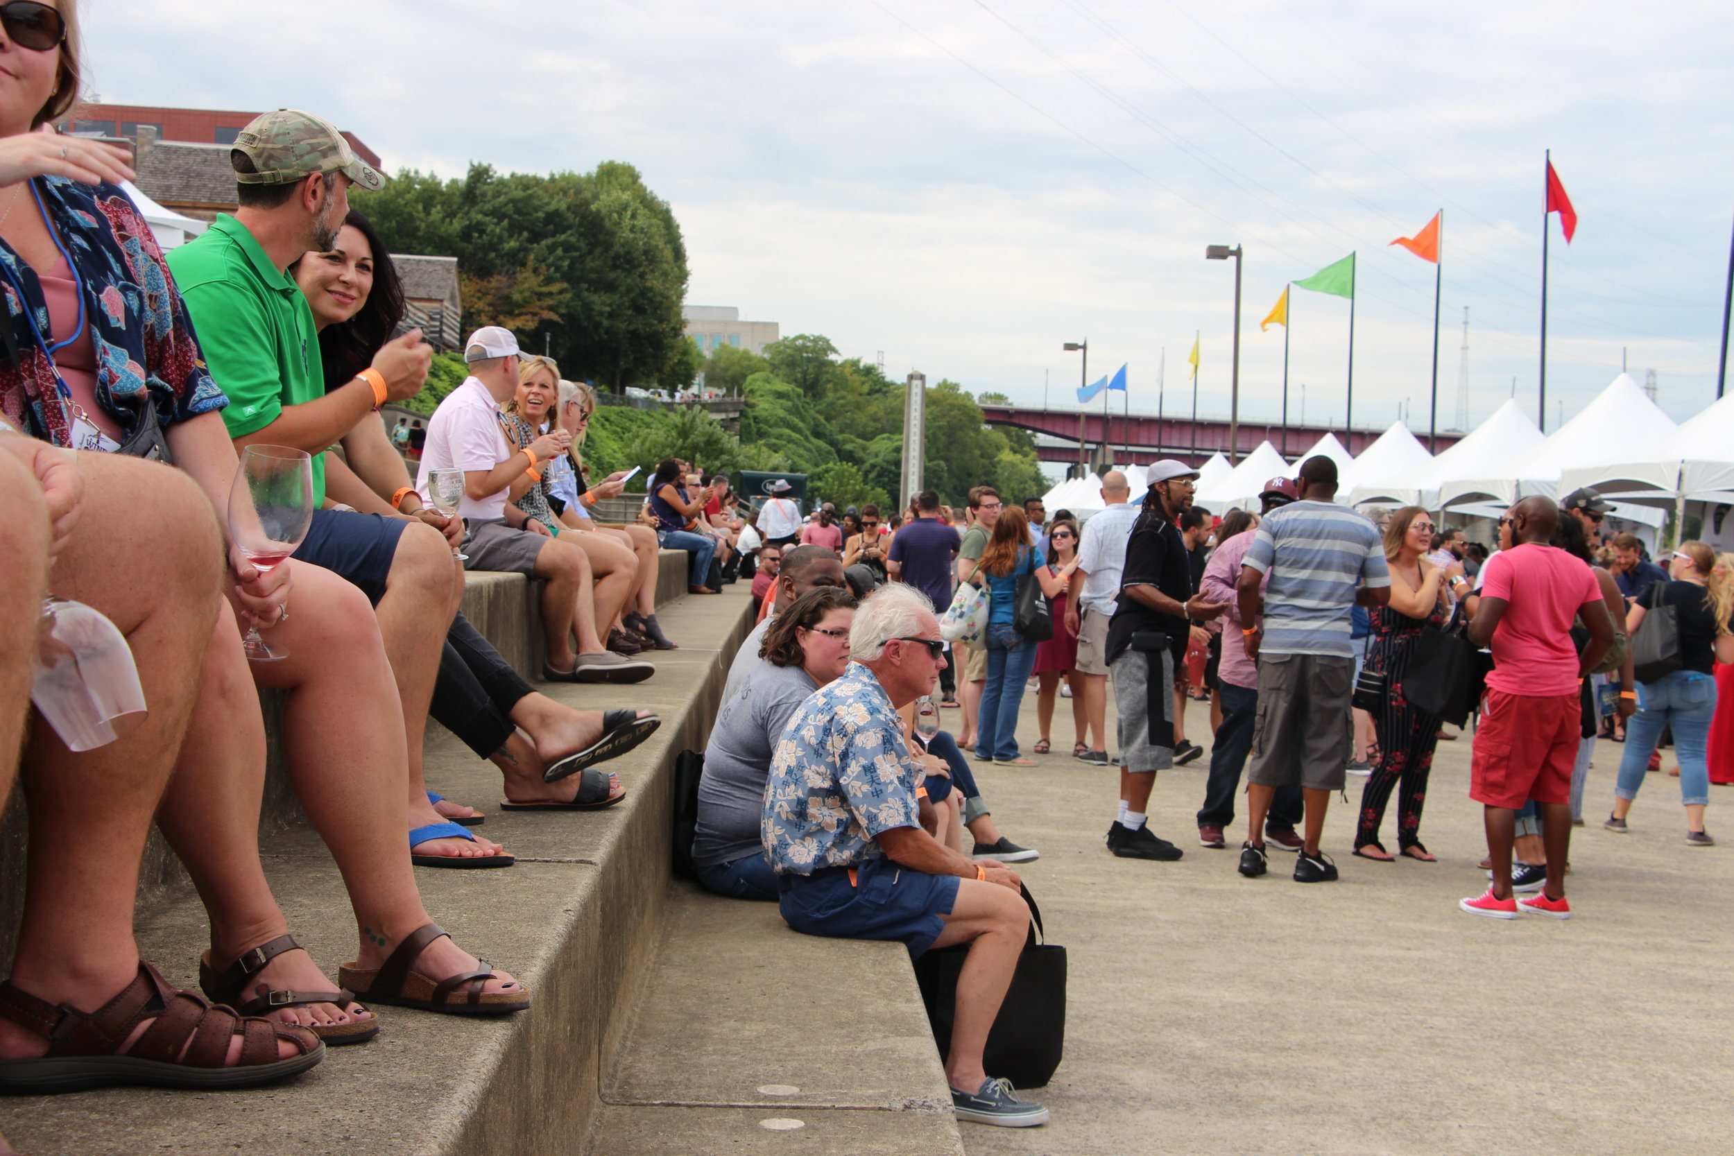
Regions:
M 404 170 L 355 206 L 394 253 L 458 258 L 466 329 L 512 319 L 518 341 L 546 341 L 565 376 L 616 390 L 678 381 L 688 367 L 687 248 L 631 165 L 546 177 L 472 165 L 453 180 Z

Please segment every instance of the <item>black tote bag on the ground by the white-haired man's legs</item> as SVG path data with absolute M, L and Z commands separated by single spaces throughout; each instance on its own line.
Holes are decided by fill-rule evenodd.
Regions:
M 1023 898 L 1030 905 L 1030 934 L 987 1033 L 981 1066 L 990 1076 L 1011 1080 L 1016 1088 L 1040 1088 L 1053 1080 L 1066 1047 L 1066 950 L 1047 943 L 1042 912 L 1028 887 L 1023 887 Z M 916 960 L 916 983 L 940 1055 L 952 1047 L 957 976 L 968 955 L 969 945 L 959 943 L 929 950 Z

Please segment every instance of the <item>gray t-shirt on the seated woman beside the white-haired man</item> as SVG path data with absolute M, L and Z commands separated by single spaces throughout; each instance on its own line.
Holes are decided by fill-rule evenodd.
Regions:
M 784 724 L 815 690 L 813 676 L 801 667 L 754 659 L 740 690 L 723 700 L 704 749 L 694 863 L 711 867 L 765 853 L 759 820 L 770 756 Z

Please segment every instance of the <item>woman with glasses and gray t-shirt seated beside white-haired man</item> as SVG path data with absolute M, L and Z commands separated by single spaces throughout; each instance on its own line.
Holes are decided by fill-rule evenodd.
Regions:
M 732 899 L 780 898 L 759 842 L 770 759 L 796 707 L 848 667 L 857 605 L 836 586 L 796 598 L 765 633 L 765 664 L 718 712 L 704 749 L 692 841 L 692 861 L 707 891 Z

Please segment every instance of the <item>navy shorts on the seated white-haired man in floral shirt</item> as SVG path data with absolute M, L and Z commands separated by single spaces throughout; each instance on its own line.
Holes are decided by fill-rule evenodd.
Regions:
M 917 958 L 945 931 L 957 903 L 955 875 L 924 875 L 886 858 L 815 875 L 782 875 L 782 919 L 799 932 L 836 939 L 896 939 Z

